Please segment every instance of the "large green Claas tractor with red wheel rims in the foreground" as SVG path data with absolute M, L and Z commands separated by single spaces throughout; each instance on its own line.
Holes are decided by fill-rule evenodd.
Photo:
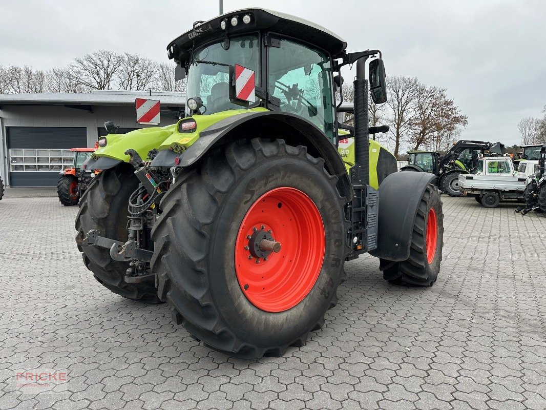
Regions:
M 248 359 L 304 344 L 337 302 L 344 262 L 363 253 L 393 284 L 434 284 L 434 175 L 397 173 L 369 140 L 365 67 L 376 57 L 371 97 L 384 103 L 381 52 L 346 47 L 323 27 L 257 8 L 197 22 L 169 43 L 187 77 L 184 118 L 108 134 L 86 164 L 103 171 L 81 198 L 76 242 L 99 282 L 166 301 L 195 339 Z M 334 95 L 353 63 L 349 127 Z

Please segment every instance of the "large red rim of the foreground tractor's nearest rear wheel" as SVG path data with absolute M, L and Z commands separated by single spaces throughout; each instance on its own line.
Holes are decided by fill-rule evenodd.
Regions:
M 250 249 L 254 238 L 265 235 L 281 243 L 278 253 L 263 257 Z M 239 227 L 235 273 L 241 290 L 263 311 L 287 311 L 313 288 L 324 250 L 324 224 L 311 198 L 294 188 L 272 189 L 252 204 Z

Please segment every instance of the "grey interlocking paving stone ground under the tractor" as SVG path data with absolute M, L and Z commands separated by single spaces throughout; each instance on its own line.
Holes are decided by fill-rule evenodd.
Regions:
M 434 286 L 389 285 L 371 256 L 348 262 L 321 331 L 245 361 L 195 342 L 164 304 L 100 286 L 74 243 L 77 207 L 37 192 L 0 202 L 0 409 L 546 408 L 544 215 L 442 196 Z M 67 383 L 18 387 L 35 369 Z

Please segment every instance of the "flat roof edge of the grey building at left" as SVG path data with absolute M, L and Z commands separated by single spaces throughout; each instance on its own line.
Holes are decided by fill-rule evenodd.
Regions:
M 174 91 L 116 91 L 91 92 L 37 92 L 25 94 L 0 94 L 2 105 L 38 106 L 133 106 L 135 98 L 158 99 L 162 106 L 184 107 L 185 92 Z

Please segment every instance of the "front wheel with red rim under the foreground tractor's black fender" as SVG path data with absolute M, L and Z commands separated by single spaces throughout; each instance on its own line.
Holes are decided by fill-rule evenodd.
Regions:
M 396 285 L 432 286 L 440 272 L 443 231 L 440 192 L 429 184 L 417 208 L 410 257 L 402 262 L 382 259 L 383 278 Z

